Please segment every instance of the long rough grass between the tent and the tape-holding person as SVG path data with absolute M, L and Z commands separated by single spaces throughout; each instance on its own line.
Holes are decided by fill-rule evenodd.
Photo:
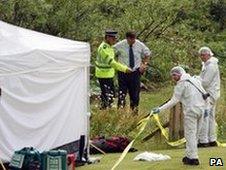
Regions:
M 151 108 L 160 105 L 167 99 L 171 97 L 172 94 L 172 86 L 168 88 L 163 88 L 160 90 L 155 90 L 152 92 L 142 92 L 141 93 L 141 101 L 140 101 L 140 109 L 139 116 L 134 117 L 131 115 L 129 108 L 125 108 L 123 110 L 117 110 L 116 108 L 100 111 L 97 108 L 97 102 L 93 102 L 91 105 L 92 110 L 92 118 L 91 118 L 91 138 L 95 136 L 127 136 L 131 139 L 136 135 L 136 131 L 134 131 L 137 122 L 150 112 Z M 168 119 L 164 114 L 161 115 L 161 120 L 164 122 Z M 104 120 L 104 121 L 103 121 Z M 155 128 L 155 122 L 150 121 L 147 128 L 145 129 L 145 133 L 141 135 L 141 138 L 149 134 L 149 132 Z M 137 142 L 135 147 L 137 149 L 145 150 L 145 149 L 167 149 L 169 148 L 163 138 L 160 135 L 155 136 L 148 142 L 140 143 Z M 159 145 L 155 146 L 154 143 L 158 142 Z M 153 146 L 153 148 L 150 146 Z

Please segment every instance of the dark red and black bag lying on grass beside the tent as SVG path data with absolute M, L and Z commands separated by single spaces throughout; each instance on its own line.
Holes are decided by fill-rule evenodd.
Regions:
M 121 136 L 113 136 L 107 139 L 105 137 L 97 137 L 92 140 L 92 145 L 106 153 L 123 152 L 129 143 L 130 140 L 127 137 Z M 90 147 L 90 153 L 99 153 L 99 151 L 92 147 L 92 145 Z M 129 151 L 134 152 L 137 150 L 135 148 L 131 148 Z

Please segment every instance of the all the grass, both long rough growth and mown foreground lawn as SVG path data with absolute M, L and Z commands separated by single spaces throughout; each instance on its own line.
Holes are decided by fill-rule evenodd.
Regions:
M 141 101 L 139 107 L 139 116 L 133 117 L 129 111 L 129 108 L 124 110 L 117 110 L 116 108 L 106 111 L 100 111 L 96 106 L 97 102 L 93 102 L 91 105 L 92 118 L 91 118 L 91 137 L 97 135 L 114 136 L 121 135 L 127 136 L 133 139 L 135 136 L 134 128 L 136 123 L 146 115 L 151 108 L 159 106 L 166 100 L 168 100 L 173 92 L 172 84 L 166 84 L 165 87 L 157 89 L 151 92 L 142 92 Z M 161 113 L 161 121 L 166 122 L 169 119 L 169 111 Z M 226 142 L 226 81 L 221 85 L 221 98 L 217 105 L 216 120 L 218 123 L 218 140 Z M 150 121 L 145 131 L 141 135 L 140 139 L 135 143 L 134 147 L 140 152 L 142 151 L 154 151 L 156 153 L 168 154 L 172 157 L 171 160 L 163 162 L 135 162 L 133 158 L 140 152 L 129 153 L 125 160 L 117 168 L 118 170 L 148 170 L 148 169 L 215 169 L 215 167 L 209 166 L 209 158 L 221 157 L 225 163 L 226 161 L 226 148 L 208 148 L 199 149 L 199 156 L 201 165 L 198 167 L 184 166 L 181 163 L 181 159 L 184 155 L 184 148 L 172 148 L 168 146 L 164 138 L 158 134 L 149 141 L 142 143 L 141 139 L 150 133 L 155 128 L 155 122 Z M 107 154 L 101 162 L 98 164 L 81 167 L 81 170 L 108 170 L 114 165 L 115 161 L 119 158 L 120 154 Z M 226 165 L 225 165 L 226 166 Z M 217 169 L 226 169 L 219 168 Z

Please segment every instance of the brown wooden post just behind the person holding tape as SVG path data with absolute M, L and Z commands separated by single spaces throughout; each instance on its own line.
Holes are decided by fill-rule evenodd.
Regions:
M 178 103 L 170 110 L 169 140 L 175 141 L 184 137 L 182 104 Z

